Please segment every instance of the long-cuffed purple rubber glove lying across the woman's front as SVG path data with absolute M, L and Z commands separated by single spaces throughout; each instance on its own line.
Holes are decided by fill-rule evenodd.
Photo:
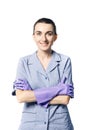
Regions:
M 57 95 L 69 95 L 74 97 L 73 86 L 59 83 L 57 86 L 50 88 L 41 88 L 34 90 L 38 104 L 44 107 L 48 106 L 48 102 Z

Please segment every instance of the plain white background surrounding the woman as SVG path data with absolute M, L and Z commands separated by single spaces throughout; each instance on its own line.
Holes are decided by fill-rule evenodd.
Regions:
M 69 111 L 75 130 L 87 130 L 86 0 L 0 0 L 0 130 L 17 130 L 22 104 L 11 96 L 20 57 L 36 50 L 33 24 L 52 18 L 58 39 L 53 49 L 71 57 L 75 98 Z

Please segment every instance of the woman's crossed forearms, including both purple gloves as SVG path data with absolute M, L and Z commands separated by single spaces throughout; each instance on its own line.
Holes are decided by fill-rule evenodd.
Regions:
M 31 89 L 29 83 L 25 80 L 18 79 L 14 82 L 14 89 L 16 90 L 16 96 L 18 99 L 18 102 L 34 102 L 37 101 L 38 104 L 43 105 L 44 107 L 47 107 L 49 104 L 49 101 L 58 96 L 57 98 L 54 98 L 56 100 L 52 100 L 55 104 L 67 104 L 69 96 L 73 97 L 73 86 L 72 85 L 66 85 L 64 83 L 59 83 L 56 86 L 50 87 L 50 88 L 40 88 L 33 90 Z M 64 100 L 62 100 L 62 97 L 64 95 Z M 68 95 L 68 96 L 65 96 Z M 61 99 L 61 100 L 60 100 Z M 56 102 L 57 101 L 57 102 Z M 62 102 L 64 101 L 64 102 Z

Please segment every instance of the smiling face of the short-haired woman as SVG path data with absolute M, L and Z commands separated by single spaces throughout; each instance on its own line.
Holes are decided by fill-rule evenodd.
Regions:
M 37 44 L 38 50 L 49 51 L 57 35 L 54 34 L 53 26 L 46 23 L 37 23 L 35 26 L 34 41 Z

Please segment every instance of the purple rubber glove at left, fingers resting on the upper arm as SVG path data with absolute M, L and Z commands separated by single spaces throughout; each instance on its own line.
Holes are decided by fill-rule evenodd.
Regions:
M 23 80 L 23 79 L 17 79 L 13 82 L 13 89 L 14 91 L 12 92 L 12 95 L 16 95 L 15 94 L 15 90 L 20 89 L 20 90 L 32 90 L 29 83 L 27 82 L 27 80 Z

